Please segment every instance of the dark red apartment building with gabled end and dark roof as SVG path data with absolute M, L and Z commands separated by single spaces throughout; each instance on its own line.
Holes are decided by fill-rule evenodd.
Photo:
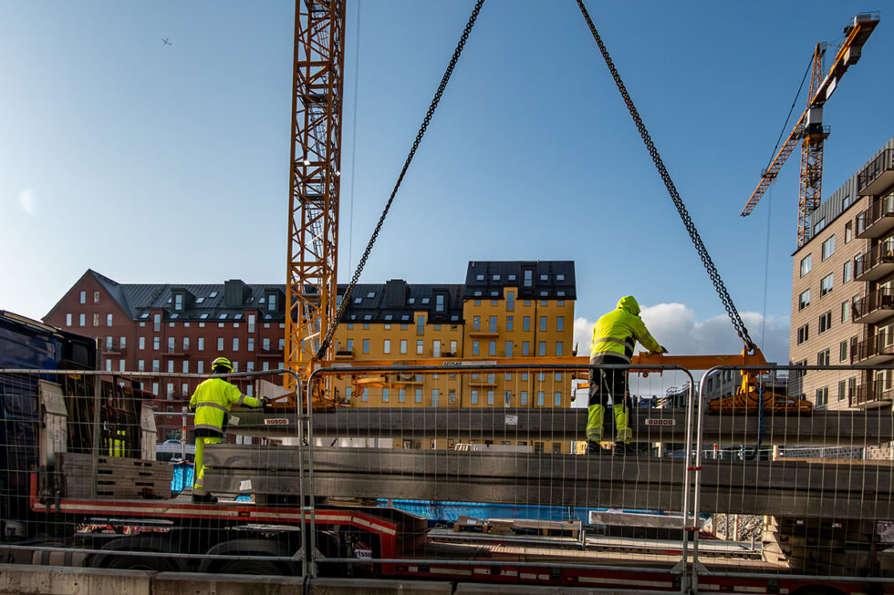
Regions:
M 159 373 L 143 388 L 157 411 L 179 414 L 200 381 L 163 374 L 208 374 L 219 355 L 236 372 L 282 367 L 284 300 L 282 285 L 122 284 L 88 270 L 44 322 L 96 338 L 102 370 Z M 252 394 L 250 383 L 242 388 Z M 160 439 L 180 437 L 180 415 L 156 421 Z

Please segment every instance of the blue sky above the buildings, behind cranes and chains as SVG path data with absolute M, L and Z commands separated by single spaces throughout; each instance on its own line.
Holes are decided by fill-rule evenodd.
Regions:
M 739 212 L 816 42 L 878 6 L 587 6 L 754 340 L 784 362 L 797 155 Z M 340 282 L 472 7 L 348 0 Z M 286 282 L 293 11 L 0 3 L 0 308 L 41 318 L 88 268 Z M 824 198 L 894 136 L 891 31 L 882 15 L 826 104 Z M 535 259 L 577 263 L 581 337 L 631 293 L 671 352 L 741 348 L 576 3 L 487 0 L 361 282 Z

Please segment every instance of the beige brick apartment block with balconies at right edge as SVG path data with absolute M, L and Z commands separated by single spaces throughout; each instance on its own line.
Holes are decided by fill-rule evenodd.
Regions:
M 894 138 L 811 215 L 795 251 L 792 364 L 894 364 Z M 789 391 L 830 409 L 890 407 L 892 374 L 791 374 Z

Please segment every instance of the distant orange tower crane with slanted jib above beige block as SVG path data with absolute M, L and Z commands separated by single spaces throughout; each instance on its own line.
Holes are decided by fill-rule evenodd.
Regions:
M 860 14 L 854 17 L 853 22 L 845 27 L 845 41 L 838 49 L 824 78 L 820 78 L 823 70 L 824 50 L 820 44 L 816 45 L 811 66 L 807 107 L 801 114 L 801 118 L 798 118 L 795 123 L 795 128 L 792 128 L 788 138 L 785 139 L 782 149 L 779 149 L 774 155 L 770 167 L 761 176 L 760 183 L 742 210 L 743 217 L 754 210 L 758 201 L 764 196 L 764 192 L 776 179 L 779 170 L 785 164 L 785 159 L 792 154 L 797 141 L 800 140 L 801 181 L 798 202 L 798 248 L 810 239 L 810 213 L 816 210 L 822 199 L 823 145 L 829 134 L 828 128 L 823 126 L 823 106 L 837 88 L 847 67 L 857 64 L 863 45 L 878 25 L 878 21 L 878 13 Z

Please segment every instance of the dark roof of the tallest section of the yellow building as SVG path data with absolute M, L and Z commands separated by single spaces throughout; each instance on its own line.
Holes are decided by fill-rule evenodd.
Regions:
M 473 261 L 465 274 L 463 298 L 501 300 L 504 287 L 524 299 L 576 299 L 574 261 Z

